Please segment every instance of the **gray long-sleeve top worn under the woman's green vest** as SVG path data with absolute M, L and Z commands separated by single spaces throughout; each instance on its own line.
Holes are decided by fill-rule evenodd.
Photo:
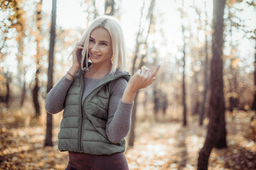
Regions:
M 82 101 L 100 83 L 101 79 L 84 78 L 85 87 Z M 46 96 L 46 111 L 48 113 L 59 113 L 65 107 L 65 96 L 73 81 L 63 77 L 53 86 Z M 118 143 L 127 136 L 131 125 L 131 113 L 133 103 L 124 103 L 121 98 L 127 81 L 123 78 L 114 80 L 110 89 L 110 103 L 108 109 L 106 133 L 110 142 Z

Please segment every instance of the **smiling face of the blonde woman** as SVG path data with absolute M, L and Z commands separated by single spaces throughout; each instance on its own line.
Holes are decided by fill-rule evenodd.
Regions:
M 89 40 L 89 57 L 93 64 L 111 64 L 112 41 L 105 28 L 92 30 Z

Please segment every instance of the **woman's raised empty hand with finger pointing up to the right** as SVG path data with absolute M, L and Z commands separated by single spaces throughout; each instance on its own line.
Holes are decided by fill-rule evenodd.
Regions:
M 156 74 L 159 71 L 159 68 L 160 65 L 156 67 L 153 72 L 148 68 L 144 68 L 142 70 L 139 69 L 129 80 L 127 88 L 136 93 L 139 89 L 144 89 L 151 85 L 156 79 Z

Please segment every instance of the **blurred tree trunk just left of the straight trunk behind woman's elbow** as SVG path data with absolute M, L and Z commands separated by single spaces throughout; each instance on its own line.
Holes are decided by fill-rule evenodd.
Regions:
M 38 92 L 39 92 L 39 72 L 40 72 L 40 41 L 41 41 L 41 35 L 40 35 L 40 32 L 41 32 L 41 19 L 42 19 L 42 15 L 41 15 L 41 11 L 42 11 L 42 1 L 43 0 L 40 0 L 38 2 L 38 5 L 37 5 L 37 11 L 36 11 L 36 27 L 37 27 L 37 30 L 36 30 L 36 74 L 35 74 L 35 86 L 33 88 L 33 91 L 32 91 L 32 96 L 33 96 L 33 105 L 34 105 L 34 108 L 35 108 L 35 112 L 36 112 L 36 117 L 38 118 L 40 115 L 41 115 L 41 112 L 40 112 L 40 103 L 38 101 Z

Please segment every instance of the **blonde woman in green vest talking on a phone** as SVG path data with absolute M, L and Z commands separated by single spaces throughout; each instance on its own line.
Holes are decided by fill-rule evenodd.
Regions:
M 69 153 L 66 169 L 129 169 L 124 137 L 134 96 L 153 83 L 159 67 L 154 72 L 139 69 L 129 79 L 125 65 L 119 22 L 110 16 L 96 18 L 75 46 L 67 74 L 46 96 L 48 113 L 64 109 L 58 149 Z

